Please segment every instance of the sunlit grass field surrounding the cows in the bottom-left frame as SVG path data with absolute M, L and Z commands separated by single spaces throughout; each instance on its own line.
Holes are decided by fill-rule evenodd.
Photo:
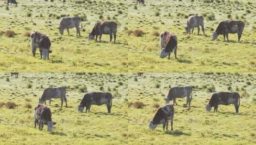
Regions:
M 47 132 L 47 126 L 43 131 L 33 128 L 34 107 L 50 86 L 66 86 L 68 100 L 68 108 L 60 108 L 59 99 L 50 105 L 52 119 L 57 123 L 52 133 Z M 18 78 L 1 73 L 0 145 L 127 144 L 127 87 L 127 76 L 120 73 L 22 73 Z M 77 106 L 86 90 L 111 92 L 111 114 L 107 113 L 106 105 L 92 105 L 90 113 L 78 113 Z M 7 102 L 17 106 L 9 109 Z M 48 101 L 46 104 L 49 105 Z

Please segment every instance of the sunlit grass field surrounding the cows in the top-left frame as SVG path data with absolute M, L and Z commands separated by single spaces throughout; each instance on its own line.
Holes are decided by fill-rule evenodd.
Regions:
M 127 72 L 126 0 L 17 0 L 18 7 L 0 0 L 0 70 L 4 72 Z M 66 1 L 66 2 L 64 2 Z M 81 37 L 76 29 L 60 36 L 58 23 L 64 16 L 83 19 Z M 103 35 L 101 43 L 89 41 L 88 35 L 96 21 L 118 23 L 116 44 Z M 81 27 L 81 26 L 80 26 Z M 14 37 L 5 36 L 12 30 Z M 50 60 L 41 60 L 39 51 L 32 56 L 28 32 L 47 34 L 52 41 Z

